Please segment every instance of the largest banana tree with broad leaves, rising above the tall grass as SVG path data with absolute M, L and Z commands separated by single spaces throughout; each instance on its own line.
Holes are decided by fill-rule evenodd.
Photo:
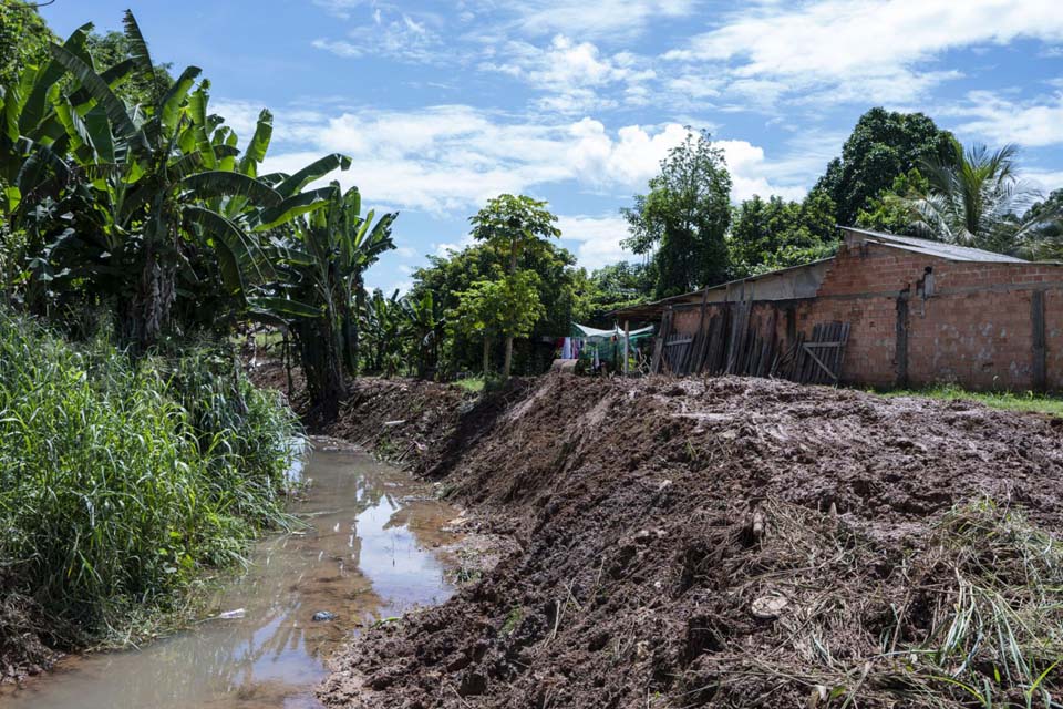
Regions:
M 125 33 L 133 48 L 131 70 L 157 86 L 147 43 L 131 12 Z M 207 82 L 193 92 L 200 74 L 185 69 L 152 104 L 127 106 L 107 78 L 83 53 L 51 47 L 53 63 L 71 78 L 55 101 L 76 167 L 91 181 L 93 224 L 65 235 L 53 258 L 66 258 L 71 277 L 95 279 L 124 304 L 124 335 L 151 346 L 169 321 L 178 295 L 178 274 L 196 282 L 196 256 L 216 259 L 221 282 L 242 298 L 241 264 L 264 264 L 247 229 L 209 201 L 234 201 L 259 209 L 279 207 L 272 186 L 233 169 L 236 135 L 218 131 L 206 114 Z

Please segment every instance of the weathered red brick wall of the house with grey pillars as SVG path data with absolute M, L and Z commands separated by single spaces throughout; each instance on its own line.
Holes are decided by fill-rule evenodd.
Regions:
M 932 292 L 923 297 L 926 269 Z M 1032 289 L 1044 290 L 1046 383 L 1063 390 L 1063 266 L 980 264 L 864 244 L 843 248 L 814 300 L 754 305 L 750 322 L 763 336 L 777 308 L 780 347 L 786 341 L 786 308 L 797 330 L 850 326 L 842 368 L 850 383 L 898 383 L 897 299 L 908 297 L 908 383 L 956 382 L 974 389 L 1033 387 Z M 720 306 L 710 305 L 709 315 Z M 700 308 L 678 311 L 674 328 L 693 333 Z

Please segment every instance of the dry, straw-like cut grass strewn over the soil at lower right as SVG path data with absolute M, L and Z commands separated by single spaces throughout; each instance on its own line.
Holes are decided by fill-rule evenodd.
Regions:
M 726 572 L 741 583 L 701 628 L 719 650 L 691 666 L 677 706 L 1063 706 L 1063 548 L 1021 513 L 957 507 L 896 553 L 830 514 L 763 514 L 764 536 Z M 785 606 L 754 621 L 756 651 L 730 647 L 768 597 Z

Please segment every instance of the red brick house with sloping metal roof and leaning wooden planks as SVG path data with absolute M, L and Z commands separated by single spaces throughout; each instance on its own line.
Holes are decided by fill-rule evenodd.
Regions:
M 842 232 L 832 258 L 613 316 L 660 323 L 657 371 L 1063 390 L 1063 264 Z

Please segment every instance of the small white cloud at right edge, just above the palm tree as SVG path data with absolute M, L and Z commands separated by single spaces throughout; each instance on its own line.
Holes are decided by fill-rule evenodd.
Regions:
M 967 95 L 967 104 L 949 113 L 968 120 L 962 134 L 990 144 L 1018 143 L 1030 147 L 1063 143 L 1063 93 L 1041 101 L 1012 102 L 988 91 Z

